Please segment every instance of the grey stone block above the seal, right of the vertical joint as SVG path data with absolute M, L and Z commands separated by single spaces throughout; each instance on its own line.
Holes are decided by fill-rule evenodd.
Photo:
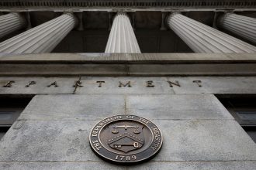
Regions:
M 149 119 L 234 119 L 212 94 L 130 95 L 126 114 Z

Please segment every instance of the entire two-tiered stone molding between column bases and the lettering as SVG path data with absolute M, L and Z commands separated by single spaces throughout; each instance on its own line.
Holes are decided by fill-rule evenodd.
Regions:
M 0 76 L 255 76 L 254 54 L 29 54 L 0 57 Z

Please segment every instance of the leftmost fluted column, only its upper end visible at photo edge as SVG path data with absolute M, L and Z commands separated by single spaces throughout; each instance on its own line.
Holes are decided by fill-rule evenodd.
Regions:
M 26 26 L 26 19 L 19 13 L 12 12 L 0 16 L 0 38 Z

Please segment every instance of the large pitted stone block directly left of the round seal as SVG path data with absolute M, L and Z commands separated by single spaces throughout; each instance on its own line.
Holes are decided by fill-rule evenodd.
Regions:
M 22 121 L 0 142 L 0 161 L 99 161 L 89 144 L 97 121 Z

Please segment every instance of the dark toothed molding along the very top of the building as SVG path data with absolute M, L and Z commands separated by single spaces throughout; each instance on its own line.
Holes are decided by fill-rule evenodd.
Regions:
M 136 0 L 136 1 L 110 1 L 110 0 L 73 0 L 73 1 L 64 1 L 64 0 L 2 0 L 0 2 L 0 8 L 11 8 L 11 7 L 54 7 L 54 8 L 63 8 L 63 7 L 84 7 L 84 8 L 94 8 L 94 7 L 119 7 L 119 8 L 156 8 L 156 7 L 171 7 L 171 8 L 255 8 L 256 2 L 254 0 L 244 1 L 244 0 Z

